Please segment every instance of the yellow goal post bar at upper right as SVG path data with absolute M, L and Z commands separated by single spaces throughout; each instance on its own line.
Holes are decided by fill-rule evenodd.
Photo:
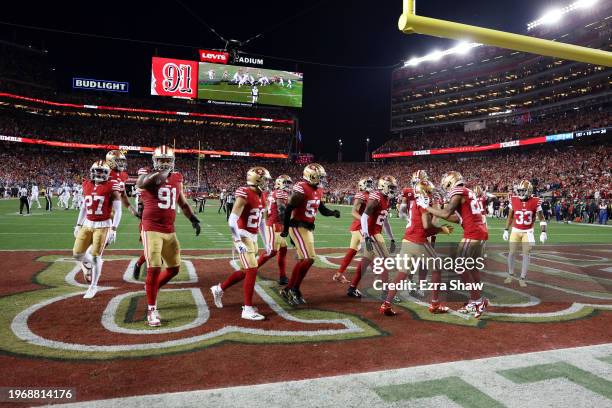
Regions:
M 426 34 L 471 41 L 514 51 L 612 67 L 612 53 L 608 51 L 418 16 L 415 3 L 415 0 L 403 0 L 403 13 L 399 18 L 398 27 L 405 34 Z

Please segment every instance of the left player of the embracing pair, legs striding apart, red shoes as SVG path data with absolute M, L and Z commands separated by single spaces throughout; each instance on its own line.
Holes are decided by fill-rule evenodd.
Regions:
M 429 181 L 420 181 L 414 186 L 415 197 L 426 197 L 433 200 L 434 185 Z M 402 239 L 402 249 L 400 251 L 401 259 L 408 258 L 421 258 L 426 260 L 428 258 L 437 258 L 438 255 L 431 244 L 429 238 L 438 233 L 451 234 L 453 228 L 447 225 L 436 227 L 433 223 L 433 216 L 422 207 L 416 204 L 416 201 L 410 202 L 410 209 L 408 210 L 408 224 L 406 225 L 406 232 Z M 421 268 L 419 268 L 421 269 Z M 408 272 L 415 274 L 417 271 L 407 271 L 399 268 L 395 283 L 398 284 L 408 276 Z M 432 283 L 439 284 L 442 282 L 442 272 L 437 269 L 431 271 Z M 396 313 L 391 307 L 393 298 L 395 297 L 396 290 L 389 290 L 387 298 L 384 303 L 380 306 L 380 313 L 385 316 L 395 316 Z M 443 306 L 438 298 L 438 286 L 434 286 L 431 296 L 431 305 L 429 311 L 431 313 L 446 313 L 448 307 Z

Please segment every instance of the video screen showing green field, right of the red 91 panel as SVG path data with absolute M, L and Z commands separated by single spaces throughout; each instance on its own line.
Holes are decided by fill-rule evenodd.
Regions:
M 302 73 L 209 62 L 198 71 L 198 99 L 302 107 Z

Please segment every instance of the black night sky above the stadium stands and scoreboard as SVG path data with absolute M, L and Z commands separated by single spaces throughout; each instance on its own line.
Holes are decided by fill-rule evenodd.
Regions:
M 243 48 L 247 53 L 355 67 L 388 67 L 454 43 L 402 34 L 397 29 L 400 0 L 181 1 L 225 38 L 244 41 L 267 31 Z M 524 32 L 528 21 L 540 17 L 551 6 L 567 4 L 569 1 L 562 0 L 418 0 L 417 13 Z M 11 2 L 10 9 L 3 9 L 0 21 L 188 46 L 138 44 L 0 25 L 2 38 L 31 40 L 35 44 L 44 41 L 66 89 L 73 76 L 81 76 L 129 81 L 131 94 L 149 95 L 151 56 L 155 53 L 197 60 L 198 48 L 224 47 L 174 0 Z M 373 140 L 373 148 L 388 138 L 390 68 L 266 62 L 270 68 L 304 72 L 304 107 L 299 118 L 306 151 L 334 160 L 337 140 L 342 138 L 344 159 L 363 160 L 367 137 Z

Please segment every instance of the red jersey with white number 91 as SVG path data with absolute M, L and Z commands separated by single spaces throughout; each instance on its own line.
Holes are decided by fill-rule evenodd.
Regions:
M 143 231 L 157 231 L 166 234 L 174 232 L 176 200 L 181 193 L 182 183 L 181 173 L 173 172 L 170 173 L 164 184 L 141 191 L 140 199 L 144 204 Z

